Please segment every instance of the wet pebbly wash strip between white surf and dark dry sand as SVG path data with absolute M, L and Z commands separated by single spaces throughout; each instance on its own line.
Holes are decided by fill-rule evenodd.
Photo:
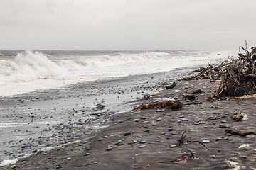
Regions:
M 4 152 L 0 160 L 21 159 L 45 147 L 90 137 L 108 126 L 112 115 L 136 106 L 134 101 L 144 93 L 154 95 L 164 89 L 166 81 L 192 69 L 85 81 L 61 89 L 1 97 L 0 149 Z M 14 135 L 9 137 L 9 133 Z

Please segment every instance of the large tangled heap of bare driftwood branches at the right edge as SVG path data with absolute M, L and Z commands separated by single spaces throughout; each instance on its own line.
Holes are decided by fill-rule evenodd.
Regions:
M 251 52 L 247 50 L 247 47 L 242 47 L 242 50 L 245 51 L 245 54 L 240 52 L 237 59 L 227 64 L 223 69 L 218 91 L 211 98 L 240 97 L 256 94 L 255 47 L 252 47 Z

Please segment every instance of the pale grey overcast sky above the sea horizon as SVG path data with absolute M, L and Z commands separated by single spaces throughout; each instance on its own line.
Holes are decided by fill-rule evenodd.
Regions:
M 236 50 L 255 0 L 1 0 L 0 50 Z

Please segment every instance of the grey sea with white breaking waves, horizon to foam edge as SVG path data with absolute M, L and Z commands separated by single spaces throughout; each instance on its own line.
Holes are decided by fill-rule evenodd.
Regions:
M 0 52 L 0 96 L 61 88 L 81 81 L 167 72 L 221 62 L 235 52 L 20 51 Z

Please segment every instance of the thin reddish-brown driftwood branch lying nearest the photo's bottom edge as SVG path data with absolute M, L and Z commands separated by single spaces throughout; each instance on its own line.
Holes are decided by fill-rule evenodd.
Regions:
M 177 157 L 176 159 L 171 160 L 171 161 L 156 162 L 156 164 L 147 164 L 144 167 L 133 168 L 133 169 L 146 169 L 146 168 L 149 168 L 151 166 L 156 166 L 156 165 L 159 165 L 159 164 L 171 164 L 171 163 L 175 163 L 175 162 L 183 162 L 183 164 L 186 164 L 186 162 L 191 161 L 193 159 L 195 159 L 195 155 L 193 154 L 193 152 L 191 152 L 191 153 L 188 153 L 188 154 L 183 154 L 180 157 Z

